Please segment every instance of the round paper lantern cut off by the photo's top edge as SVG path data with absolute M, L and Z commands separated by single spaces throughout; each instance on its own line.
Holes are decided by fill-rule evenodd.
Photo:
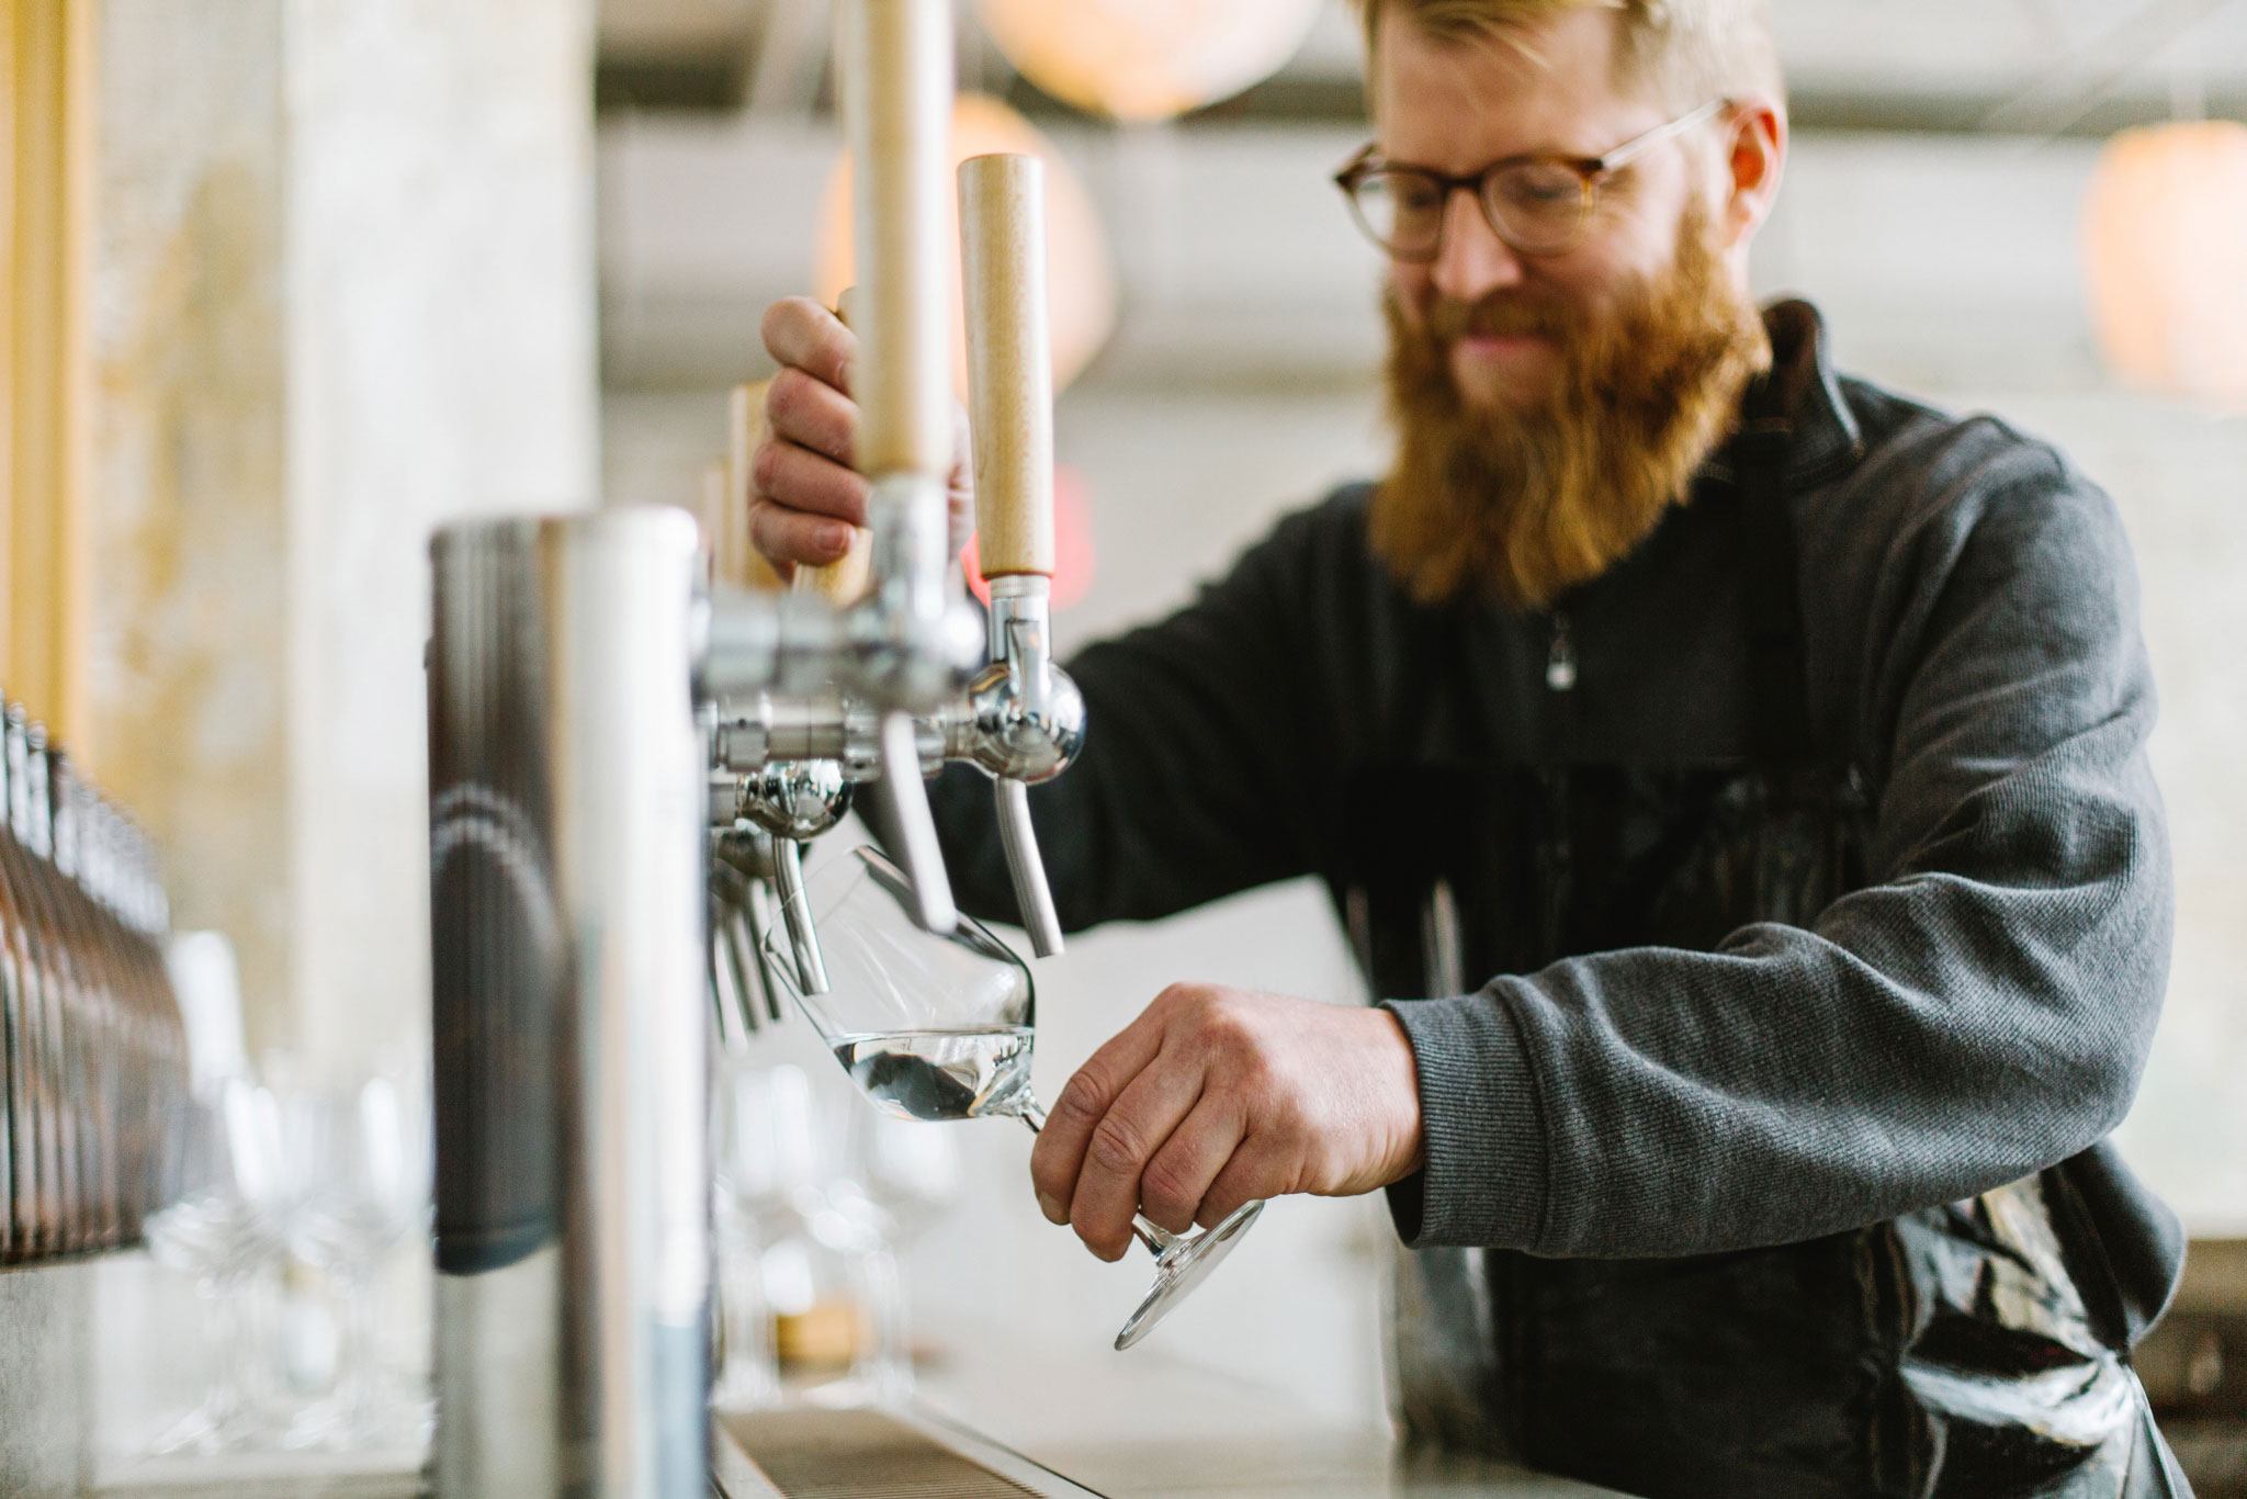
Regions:
M 980 0 L 984 34 L 1054 99 L 1168 119 L 1288 65 L 1319 0 Z

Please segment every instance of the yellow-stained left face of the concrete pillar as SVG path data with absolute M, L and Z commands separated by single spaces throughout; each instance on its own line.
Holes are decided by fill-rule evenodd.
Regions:
M 234 935 L 265 1041 L 290 993 L 281 0 L 101 11 L 94 773 L 180 926 Z

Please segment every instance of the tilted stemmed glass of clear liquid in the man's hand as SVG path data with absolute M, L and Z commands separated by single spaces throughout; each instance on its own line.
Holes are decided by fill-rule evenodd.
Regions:
M 766 937 L 766 966 L 876 1108 L 901 1119 L 1045 1126 L 1029 1085 L 1036 989 L 1007 944 L 968 917 L 950 937 L 924 930 L 906 876 L 872 847 L 816 872 L 809 901 L 827 993 L 802 991 L 777 928 Z M 1132 1234 L 1155 1254 L 1155 1285 L 1117 1333 L 1117 1348 L 1153 1333 L 1261 1211 L 1263 1202 L 1247 1202 L 1200 1234 L 1168 1234 L 1132 1214 Z

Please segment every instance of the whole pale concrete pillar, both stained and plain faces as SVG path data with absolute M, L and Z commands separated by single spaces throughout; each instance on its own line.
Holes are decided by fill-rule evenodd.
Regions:
M 254 1050 L 425 1027 L 425 542 L 595 492 L 591 27 L 103 7 L 97 773 Z

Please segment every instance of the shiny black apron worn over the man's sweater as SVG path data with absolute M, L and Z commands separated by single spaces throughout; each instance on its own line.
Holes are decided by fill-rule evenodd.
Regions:
M 1535 764 L 1400 757 L 1429 816 L 1332 881 L 1380 996 L 1461 993 L 1618 946 L 1809 926 L 1865 883 L 1870 798 L 1811 746 L 1786 429 L 1737 445 L 1753 755 L 1586 764 L 1568 699 Z M 1427 616 L 1418 697 L 1476 721 L 1461 623 Z M 1568 683 L 1557 674 L 1555 685 Z M 1449 685 L 1447 685 L 1449 683 Z M 1503 1191 L 1492 1182 L 1492 1191 Z M 2139 1499 L 2191 1490 L 2056 1229 L 2058 1171 L 1809 1243 L 1645 1261 L 1400 1250 L 1391 1387 L 1407 1443 L 1654 1499 Z

